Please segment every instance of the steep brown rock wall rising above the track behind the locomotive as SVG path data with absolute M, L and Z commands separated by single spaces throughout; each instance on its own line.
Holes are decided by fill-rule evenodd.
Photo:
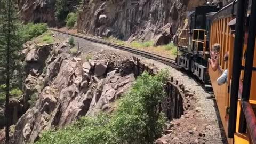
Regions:
M 205 2 L 204 0 L 84 1 L 84 7 L 78 16 L 78 32 L 97 36 L 113 35 L 124 40 L 133 37 L 140 41 L 159 39 L 159 42 L 155 42 L 156 45 L 165 44 L 172 37 L 169 34 L 174 34 L 179 26 L 182 27 L 185 12 Z M 223 3 L 227 2 L 223 0 Z

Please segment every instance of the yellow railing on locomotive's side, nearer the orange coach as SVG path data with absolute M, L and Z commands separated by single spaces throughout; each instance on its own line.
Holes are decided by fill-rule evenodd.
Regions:
M 193 29 L 193 39 L 192 42 L 194 46 L 196 47 L 196 51 L 199 51 L 199 45 L 201 44 L 203 46 L 203 55 L 205 56 L 205 51 L 206 51 L 206 31 L 205 29 Z M 203 34 L 203 39 L 200 38 Z

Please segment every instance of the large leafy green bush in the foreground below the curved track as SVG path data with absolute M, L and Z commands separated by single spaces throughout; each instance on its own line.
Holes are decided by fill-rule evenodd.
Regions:
M 45 131 L 36 143 L 154 143 L 161 137 L 166 122 L 156 110 L 165 97 L 166 79 L 166 71 L 156 76 L 143 73 L 130 92 L 115 103 L 113 113 L 82 117 L 64 129 Z

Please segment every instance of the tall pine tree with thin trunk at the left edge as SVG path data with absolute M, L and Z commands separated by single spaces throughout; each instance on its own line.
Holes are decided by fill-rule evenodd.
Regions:
M 18 18 L 14 0 L 0 0 L 0 91 L 5 94 L 5 137 L 9 142 L 9 97 L 18 86 L 15 74 L 18 69 L 21 44 L 18 35 Z

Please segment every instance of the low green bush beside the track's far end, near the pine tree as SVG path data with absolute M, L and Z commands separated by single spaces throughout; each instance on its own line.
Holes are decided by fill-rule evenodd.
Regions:
M 42 35 L 47 30 L 47 25 L 45 23 L 28 23 L 27 25 L 22 25 L 21 28 L 19 29 L 21 42 L 25 43 L 32 38 Z

